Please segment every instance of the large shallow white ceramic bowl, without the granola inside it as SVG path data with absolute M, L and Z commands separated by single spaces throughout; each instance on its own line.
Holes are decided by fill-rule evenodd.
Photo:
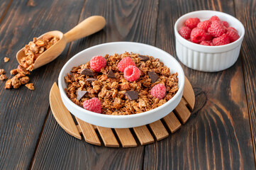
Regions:
M 177 94 L 167 101 L 167 103 L 162 106 L 155 108 L 151 111 L 144 113 L 139 113 L 135 115 L 104 115 L 99 113 L 94 113 L 81 108 L 69 100 L 65 93 L 65 88 L 67 84 L 65 83 L 64 77 L 69 73 L 72 67 L 77 67 L 80 64 L 85 64 L 91 60 L 91 57 L 96 55 L 113 55 L 115 53 L 121 54 L 123 52 L 135 52 L 140 55 L 150 55 L 155 58 L 159 58 L 167 67 L 170 68 L 171 73 L 177 72 L 179 78 L 179 90 Z M 87 123 L 93 125 L 99 125 L 106 128 L 132 128 L 140 125 L 146 125 L 148 123 L 160 120 L 160 118 L 165 117 L 170 113 L 182 98 L 184 89 L 184 72 L 179 62 L 169 55 L 167 52 L 160 50 L 157 47 L 151 45 L 145 45 L 138 42 L 109 42 L 106 44 L 96 45 L 94 47 L 89 47 L 77 55 L 74 55 L 60 71 L 58 85 L 60 88 L 60 95 L 63 103 L 67 109 L 77 118 L 84 120 Z

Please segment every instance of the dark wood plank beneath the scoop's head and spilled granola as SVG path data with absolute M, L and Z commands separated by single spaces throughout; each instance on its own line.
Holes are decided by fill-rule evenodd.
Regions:
M 49 30 L 69 30 L 77 24 L 84 1 L 13 1 L 0 27 L 0 68 L 18 66 L 16 52 L 33 37 Z M 64 12 L 66 11 L 66 12 Z M 69 12 L 67 12 L 69 11 Z M 70 15 L 72 13 L 72 15 Z M 0 169 L 28 169 L 49 108 L 49 92 L 67 57 L 67 48 L 54 62 L 30 75 L 35 91 L 26 86 L 4 89 L 0 82 Z M 10 61 L 4 63 L 4 57 Z

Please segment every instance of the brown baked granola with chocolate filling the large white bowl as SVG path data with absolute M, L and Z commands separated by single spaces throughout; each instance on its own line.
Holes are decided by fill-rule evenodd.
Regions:
M 130 57 L 140 69 L 140 78 L 136 81 L 126 80 L 123 72 L 118 71 L 118 62 L 124 57 Z M 91 70 L 87 62 L 73 67 L 67 74 L 65 91 L 72 102 L 83 107 L 84 101 L 96 97 L 101 101 L 101 113 L 131 115 L 161 106 L 178 91 L 177 73 L 171 74 L 169 68 L 157 58 L 125 52 L 121 55 L 106 55 L 105 59 L 106 67 L 100 72 Z M 87 74 L 89 72 L 91 74 Z M 152 73 L 156 77 L 152 77 Z M 150 94 L 156 84 L 165 85 L 165 98 L 158 99 Z M 128 95 L 134 93 L 137 97 Z

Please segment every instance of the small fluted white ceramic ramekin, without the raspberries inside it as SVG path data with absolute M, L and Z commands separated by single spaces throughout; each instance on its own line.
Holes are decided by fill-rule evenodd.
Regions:
M 231 27 L 238 30 L 240 38 L 228 45 L 206 46 L 199 45 L 182 38 L 178 30 L 184 26 L 188 18 L 208 20 L 211 16 L 218 16 L 222 21 L 228 21 Z M 245 28 L 238 19 L 227 13 L 218 11 L 194 11 L 181 16 L 174 26 L 176 38 L 176 52 L 179 60 L 191 69 L 204 72 L 218 72 L 231 67 L 238 60 L 240 47 L 245 35 Z

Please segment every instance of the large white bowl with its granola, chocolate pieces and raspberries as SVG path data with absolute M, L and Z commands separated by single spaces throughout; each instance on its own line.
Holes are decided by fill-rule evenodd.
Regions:
M 62 67 L 58 85 L 63 103 L 77 118 L 106 128 L 133 128 L 176 108 L 184 72 L 157 47 L 108 42 L 74 55 Z

